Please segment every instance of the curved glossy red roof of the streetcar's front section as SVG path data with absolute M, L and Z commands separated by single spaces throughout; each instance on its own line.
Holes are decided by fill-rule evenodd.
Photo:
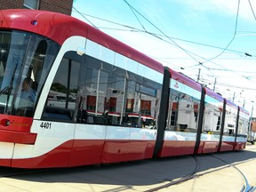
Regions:
M 47 36 L 59 44 L 63 44 L 70 36 L 84 36 L 114 52 L 136 60 L 148 68 L 164 73 L 164 66 L 160 62 L 108 36 L 99 29 L 93 28 L 82 20 L 58 12 L 28 9 L 3 10 L 0 12 L 0 28 L 36 33 Z

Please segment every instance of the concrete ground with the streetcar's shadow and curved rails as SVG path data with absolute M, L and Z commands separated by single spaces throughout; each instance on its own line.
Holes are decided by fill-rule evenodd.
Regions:
M 196 172 L 198 177 L 158 191 L 241 191 L 244 178 L 236 168 L 244 173 L 251 186 L 256 186 L 255 158 L 254 146 L 248 146 L 246 150 L 239 152 L 196 156 L 200 165 Z M 227 163 L 236 164 L 236 168 L 228 166 Z M 0 189 L 4 192 L 147 191 L 168 185 L 173 180 L 180 180 L 194 172 L 195 168 L 196 161 L 193 156 L 107 164 L 100 167 L 84 166 L 12 178 L 1 177 Z M 6 172 L 11 171 L 9 168 L 0 168 L 0 175 L 8 175 Z

